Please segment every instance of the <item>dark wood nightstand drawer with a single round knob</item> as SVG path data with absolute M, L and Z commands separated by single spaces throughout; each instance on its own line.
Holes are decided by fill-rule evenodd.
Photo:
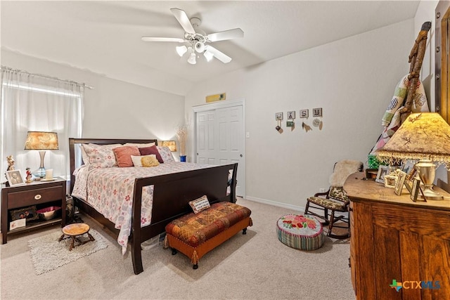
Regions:
M 60 185 L 51 188 L 37 188 L 24 190 L 23 192 L 8 193 L 8 209 L 61 200 L 62 195 L 63 187 Z

